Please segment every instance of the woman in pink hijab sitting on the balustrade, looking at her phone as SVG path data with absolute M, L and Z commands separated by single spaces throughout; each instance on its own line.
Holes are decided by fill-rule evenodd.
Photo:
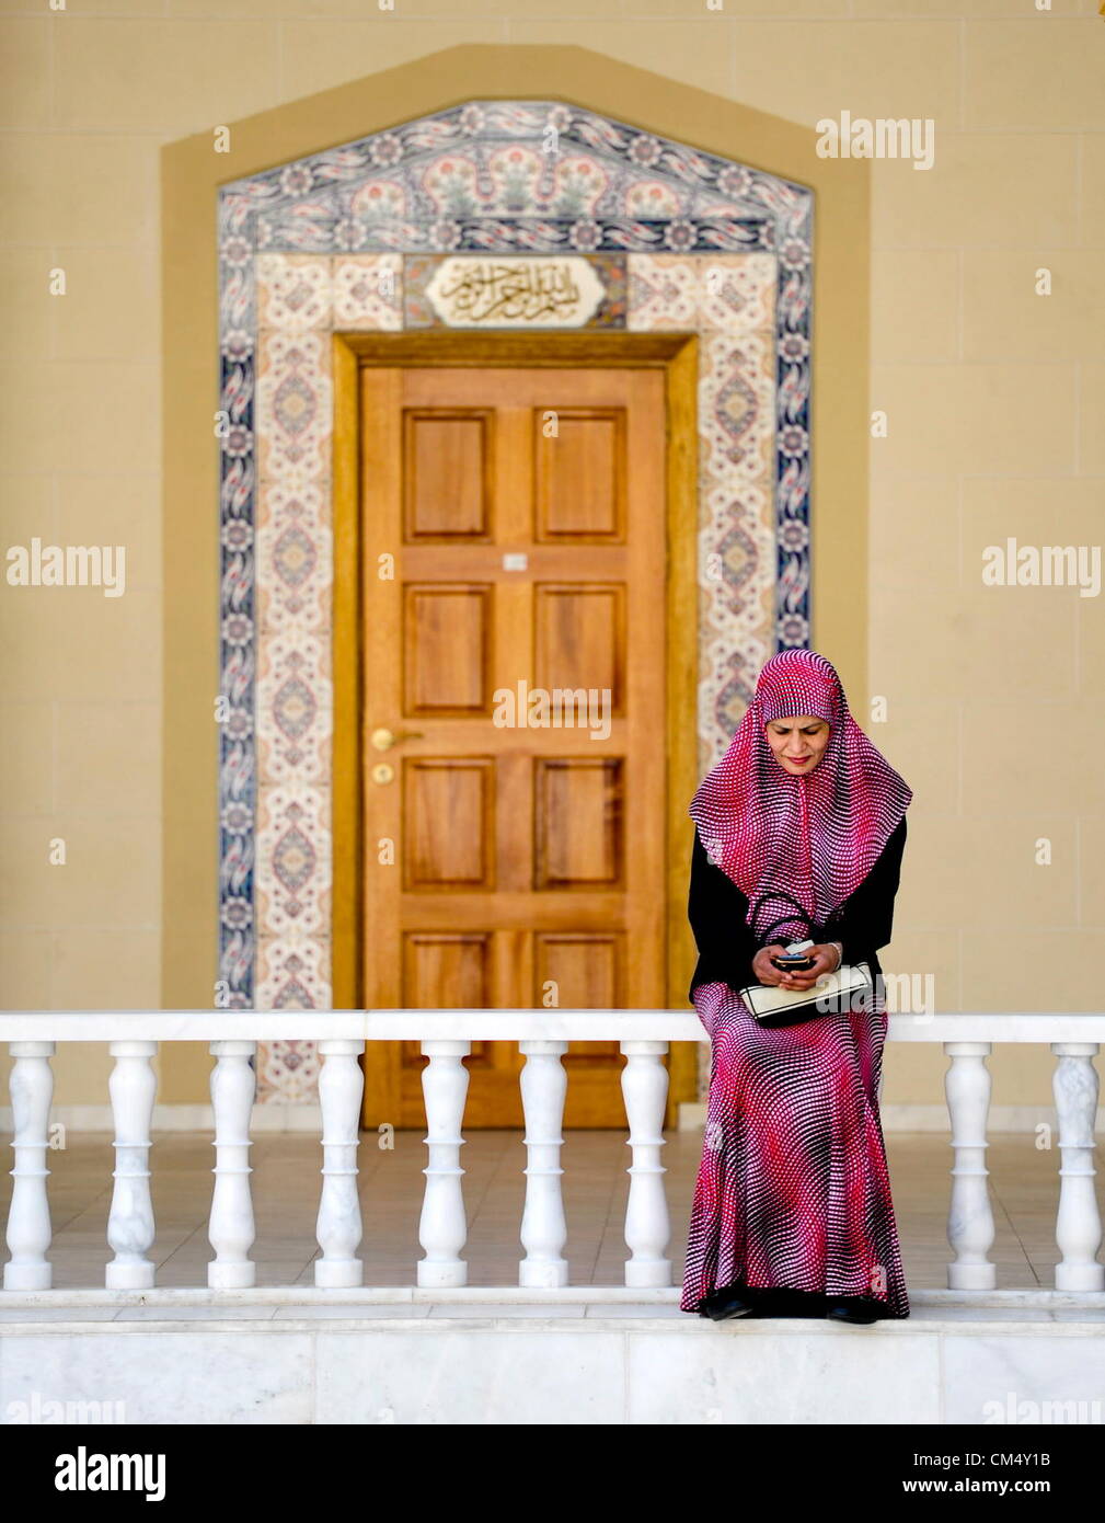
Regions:
M 909 1316 L 878 1116 L 890 940 L 912 789 L 863 734 L 833 666 L 782 650 L 691 801 L 689 998 L 711 1083 L 680 1310 Z M 805 973 L 772 958 L 816 944 Z M 865 1010 L 761 1027 L 749 984 L 813 988 L 866 961 Z

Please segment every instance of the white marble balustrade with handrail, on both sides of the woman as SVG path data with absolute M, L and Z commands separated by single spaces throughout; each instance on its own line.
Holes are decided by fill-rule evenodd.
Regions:
M 323 1057 L 320 1101 L 323 1164 L 315 1260 L 320 1290 L 362 1284 L 358 1246 L 362 1237 L 358 1194 L 358 1127 L 364 1043 L 422 1039 L 429 1058 L 423 1069 L 426 1106 L 425 1196 L 417 1263 L 420 1287 L 466 1285 L 463 1258 L 467 1223 L 461 1148 L 469 1074 L 463 1058 L 473 1040 L 517 1042 L 525 1058 L 521 1075 L 525 1115 L 525 1206 L 519 1238 L 519 1285 L 534 1292 L 568 1284 L 563 1246 L 565 1218 L 560 1148 L 568 1077 L 562 1063 L 574 1040 L 618 1040 L 626 1057 L 621 1075 L 626 1103 L 630 1188 L 626 1209 L 626 1287 L 671 1284 L 667 1247 L 671 1235 L 664 1188 L 664 1118 L 668 1072 L 664 1057 L 671 1042 L 702 1042 L 693 1011 L 533 1011 L 533 1010 L 390 1010 L 310 1011 L 163 1011 L 110 1014 L 0 1014 L 0 1040 L 11 1045 L 14 1118 L 14 1189 L 8 1215 L 3 1287 L 37 1292 L 50 1287 L 49 1127 L 53 1080 L 50 1058 L 58 1042 L 108 1042 L 114 1058 L 110 1080 L 114 1118 L 114 1188 L 108 1217 L 105 1287 L 143 1290 L 155 1284 L 149 1258 L 155 1223 L 149 1188 L 151 1119 L 155 1075 L 152 1060 L 161 1042 L 207 1040 L 213 1057 L 212 1109 L 215 1168 L 209 1238 L 215 1256 L 207 1269 L 212 1288 L 250 1288 L 256 1269 L 250 1188 L 250 1119 L 256 1094 L 257 1042 L 310 1037 Z M 1105 1037 L 1105 1016 L 1096 1014 L 953 1014 L 892 1016 L 889 1040 L 939 1042 L 948 1058 L 945 1094 L 953 1151 L 948 1208 L 948 1288 L 995 1288 L 988 1258 L 994 1218 L 986 1186 L 986 1115 L 991 1081 L 986 1068 L 994 1043 L 1030 1042 L 1050 1048 L 1058 1122 L 1056 1244 L 1061 1260 L 1055 1292 L 1105 1290 L 1105 1266 L 1097 1260 L 1102 1224 L 1094 1196 L 1094 1057 Z

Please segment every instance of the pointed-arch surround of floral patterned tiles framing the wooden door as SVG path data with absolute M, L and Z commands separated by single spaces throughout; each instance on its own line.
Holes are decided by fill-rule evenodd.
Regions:
M 712 101 L 746 125 L 755 119 L 761 149 L 763 123 L 772 122 L 577 49 L 464 47 L 423 64 L 502 53 L 601 62 L 603 94 L 610 93 L 613 70 L 656 81 L 676 96 Z M 542 76 L 554 78 L 554 59 L 542 62 Z M 397 82 L 417 69 L 376 78 Z M 435 75 L 440 79 L 440 67 Z M 472 79 L 473 69 L 460 75 Z M 224 180 L 213 196 L 222 425 L 212 481 L 221 538 L 222 699 L 216 1002 L 231 1007 L 332 1002 L 332 335 L 440 327 L 425 288 L 443 257 L 572 254 L 591 263 L 604 292 L 589 327 L 699 335 L 700 768 L 724 749 L 763 663 L 776 649 L 810 644 L 814 186 L 565 101 L 560 91 L 510 99 L 475 90 L 446 90 L 438 99 L 441 93 L 452 93 L 455 104 L 385 119 L 338 146 Z M 648 116 L 645 96 L 636 120 Z M 349 102 L 335 122 L 347 111 Z M 805 140 L 813 134 L 788 123 L 778 129 L 790 158 L 807 154 L 802 163 L 811 171 L 819 161 Z M 320 137 L 327 134 L 318 131 L 315 142 Z M 195 160 L 195 140 L 174 149 L 178 163 L 166 149 L 167 241 L 175 230 L 174 171 L 184 174 L 187 149 Z M 190 174 L 195 195 L 195 163 Z M 181 195 L 181 218 L 186 201 Z M 166 244 L 166 327 L 181 338 L 181 308 L 170 315 L 169 288 L 180 292 L 184 285 L 180 259 Z M 193 280 L 184 311 L 195 311 L 201 285 Z M 174 446 L 183 454 L 172 396 L 178 387 L 183 401 L 189 378 L 195 391 L 199 369 L 198 355 L 190 370 L 175 356 L 174 372 L 170 340 L 167 332 L 169 787 L 170 780 L 186 783 L 174 749 L 181 720 L 175 682 L 186 664 L 174 615 L 193 631 L 201 617 L 195 603 L 186 605 L 180 579 L 169 585 L 180 548 L 172 530 L 183 507 L 172 477 Z M 195 334 L 189 347 L 195 353 Z M 852 358 L 860 370 L 851 376 L 863 382 L 858 349 Z M 195 413 L 193 396 L 189 404 Z M 183 535 L 192 536 L 195 530 Z M 863 535 L 855 539 L 863 547 Z M 195 745 L 187 751 L 195 755 Z M 177 889 L 169 862 L 174 848 L 187 850 L 187 832 L 184 810 L 167 803 L 169 813 L 166 1004 L 205 1004 L 202 996 L 174 998 L 186 981 L 189 944 L 202 941 L 202 915 L 190 905 L 184 926 L 170 926 Z M 187 978 L 195 981 L 195 973 Z M 259 1098 L 309 1098 L 314 1078 L 314 1045 L 272 1046 L 260 1055 Z

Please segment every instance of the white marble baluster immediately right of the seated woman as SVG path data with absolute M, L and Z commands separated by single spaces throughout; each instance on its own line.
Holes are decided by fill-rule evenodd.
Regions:
M 997 1270 L 986 1258 L 994 1241 L 994 1215 L 986 1189 L 986 1112 L 989 1110 L 989 1042 L 945 1042 L 951 1058 L 944 1078 L 951 1118 L 951 1206 L 948 1290 L 992 1290 Z

